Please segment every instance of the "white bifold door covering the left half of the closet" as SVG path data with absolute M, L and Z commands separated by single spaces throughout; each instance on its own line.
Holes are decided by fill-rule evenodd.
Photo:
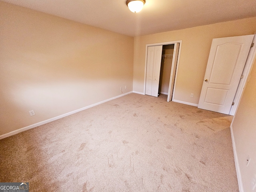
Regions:
M 148 47 L 146 95 L 158 97 L 163 46 Z

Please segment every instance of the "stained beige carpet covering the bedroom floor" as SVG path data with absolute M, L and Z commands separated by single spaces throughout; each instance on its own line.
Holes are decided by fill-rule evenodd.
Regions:
M 0 140 L 0 182 L 30 192 L 238 192 L 232 116 L 140 94 Z

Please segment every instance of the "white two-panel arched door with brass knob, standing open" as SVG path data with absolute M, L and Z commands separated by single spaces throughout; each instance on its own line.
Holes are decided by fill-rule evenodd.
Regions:
M 212 40 L 198 108 L 229 114 L 253 37 Z

